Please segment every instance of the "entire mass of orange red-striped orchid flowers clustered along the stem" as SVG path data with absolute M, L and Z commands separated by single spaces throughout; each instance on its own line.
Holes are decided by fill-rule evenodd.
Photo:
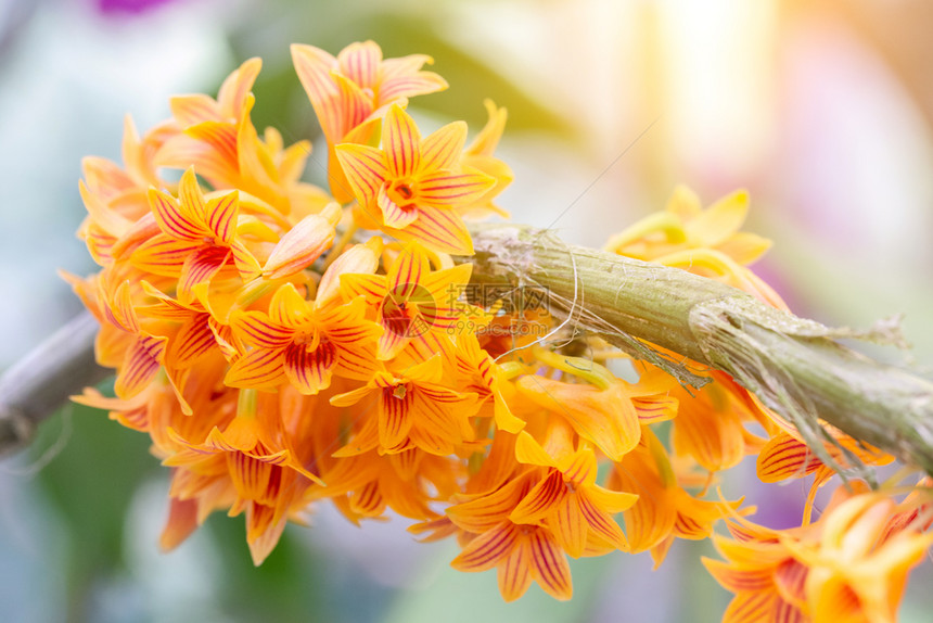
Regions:
M 423 69 L 430 58 L 383 59 L 371 41 L 292 55 L 327 141 L 328 189 L 302 180 L 308 142 L 285 147 L 254 127 L 257 59 L 216 99 L 174 98 L 171 118 L 142 136 L 128 120 L 123 166 L 84 162 L 79 234 L 101 270 L 68 279 L 100 321 L 97 357 L 116 370 L 116 395 L 76 399 L 149 434 L 171 468 L 164 547 L 214 511 L 244 513 L 258 564 L 287 521 L 331 500 L 353 522 L 392 511 L 426 539 L 456 535 L 453 567 L 497 569 L 508 600 L 533 581 L 567 599 L 568 558 L 650 551 L 660 563 L 674 539 L 711 537 L 726 519 L 774 549 L 768 561 L 810 570 L 790 601 L 750 598 L 756 582 L 780 585 L 775 565 L 749 571 L 741 547 L 716 537 L 730 562 L 708 564 L 739 594 L 732 620 L 753 620 L 734 612 L 750 600 L 819 615 L 838 586 L 874 616 L 878 599 L 899 595 L 929 518 L 898 518 L 922 504 L 895 513 L 865 494 L 874 497 L 845 521 L 833 518 L 848 503 L 802 532 L 750 527 L 751 508 L 704 495 L 717 472 L 758 455 L 768 482 L 816 472 L 816 491 L 833 473 L 793 427 L 699 364 L 712 377 L 700 390 L 642 363 L 637 381 L 618 378 L 610 367 L 624 355 L 560 334 L 547 297 L 475 295 L 467 223 L 503 214 L 503 109 L 486 103 L 468 145 L 464 123 L 425 134 L 407 112 L 409 98 L 447 88 Z M 744 266 L 768 245 L 738 232 L 745 211 L 743 194 L 702 211 L 678 190 L 608 249 L 782 306 Z M 560 346 L 542 340 L 552 334 Z M 890 460 L 833 435 L 840 462 Z M 834 562 L 838 543 L 882 529 L 885 545 L 856 556 L 890 561 L 891 588 L 862 595 Z

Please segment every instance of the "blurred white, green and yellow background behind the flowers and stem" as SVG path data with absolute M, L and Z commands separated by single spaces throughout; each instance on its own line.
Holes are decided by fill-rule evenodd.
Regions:
M 215 94 L 259 55 L 256 126 L 322 154 L 289 44 L 371 38 L 386 56 L 433 55 L 450 82 L 412 103 L 425 125 L 475 131 L 486 97 L 509 109 L 501 204 L 516 221 L 601 245 L 679 182 L 706 204 L 747 188 L 746 229 L 775 241 L 756 271 L 791 307 L 853 327 L 904 313 L 913 349 L 874 354 L 929 372 L 931 29 L 926 0 L 0 0 L 0 369 L 79 312 L 55 270 L 94 270 L 74 237 L 80 158 L 118 161 L 124 115 L 148 128 L 169 96 Z M 212 518 L 163 555 L 167 474 L 146 446 L 69 406 L 0 461 L 0 620 L 702 623 L 730 597 L 699 563 L 708 544 L 678 543 L 654 572 L 647 555 L 575 562 L 570 603 L 535 586 L 504 605 L 494 572 L 449 569 L 455 544 L 329 508 L 258 570 L 242 519 Z M 754 465 L 738 471 L 736 495 Z M 782 527 L 804 495 L 749 498 Z M 929 621 L 930 567 L 903 621 Z

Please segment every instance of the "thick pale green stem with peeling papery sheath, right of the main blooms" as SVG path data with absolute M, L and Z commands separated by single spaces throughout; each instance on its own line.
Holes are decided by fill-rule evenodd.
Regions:
M 718 281 L 567 245 L 539 230 L 484 226 L 473 242 L 474 280 L 546 289 L 552 312 L 636 356 L 654 355 L 631 348 L 644 341 L 728 372 L 792 421 L 818 454 L 818 437 L 826 438 L 820 419 L 933 474 L 933 382 L 834 340 L 858 334 Z

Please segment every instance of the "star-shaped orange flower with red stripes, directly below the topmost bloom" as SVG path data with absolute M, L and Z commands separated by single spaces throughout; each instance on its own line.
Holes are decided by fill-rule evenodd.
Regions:
M 469 255 L 473 242 L 456 208 L 480 200 L 496 178 L 460 165 L 465 139 L 463 122 L 422 139 L 408 113 L 393 105 L 385 116 L 383 150 L 355 143 L 335 150 L 354 196 L 383 231 L 434 251 Z

